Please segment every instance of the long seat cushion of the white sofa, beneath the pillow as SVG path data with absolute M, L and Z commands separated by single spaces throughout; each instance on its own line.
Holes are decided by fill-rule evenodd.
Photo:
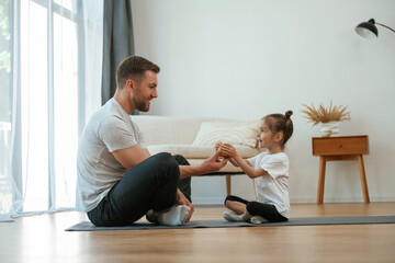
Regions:
M 250 158 L 258 155 L 257 148 L 248 146 L 235 146 L 236 150 L 242 158 Z M 192 145 L 150 145 L 148 150 L 151 155 L 162 151 L 170 152 L 171 155 L 181 155 L 187 159 L 202 158 L 206 159 L 214 155 L 214 146 L 192 146 Z

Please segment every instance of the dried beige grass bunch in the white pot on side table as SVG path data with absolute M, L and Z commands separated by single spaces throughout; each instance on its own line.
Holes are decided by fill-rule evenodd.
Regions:
M 306 104 L 302 104 L 307 110 L 302 110 L 305 114 L 305 117 L 309 119 L 309 123 L 317 125 L 319 123 L 329 123 L 329 122 L 341 122 L 350 119 L 350 112 L 346 112 L 347 106 L 332 106 L 332 102 L 330 101 L 329 107 L 325 107 L 323 103 L 319 104 L 319 107 L 316 108 L 313 104 L 308 106 Z

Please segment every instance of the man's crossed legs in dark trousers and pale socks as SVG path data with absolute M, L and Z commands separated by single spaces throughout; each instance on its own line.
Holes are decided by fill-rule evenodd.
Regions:
M 182 225 L 188 206 L 174 207 L 177 188 L 191 201 L 191 178 L 180 180 L 179 165 L 189 165 L 182 156 L 161 152 L 132 168 L 88 217 L 95 226 L 127 226 L 147 215 L 162 225 Z

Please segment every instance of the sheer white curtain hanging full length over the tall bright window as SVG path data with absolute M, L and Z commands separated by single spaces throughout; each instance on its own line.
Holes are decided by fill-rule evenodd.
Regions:
M 13 1 L 2 219 L 75 207 L 78 138 L 101 105 L 102 1 Z

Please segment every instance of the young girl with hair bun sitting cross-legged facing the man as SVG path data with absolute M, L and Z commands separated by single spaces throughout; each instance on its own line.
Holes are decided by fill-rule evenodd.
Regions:
M 293 133 L 291 121 L 292 111 L 283 114 L 270 114 L 261 121 L 258 137 L 260 148 L 267 152 L 259 153 L 247 160 L 241 159 L 235 147 L 218 142 L 216 149 L 229 161 L 240 167 L 242 171 L 255 180 L 258 202 L 248 202 L 238 196 L 229 195 L 225 206 L 232 211 L 225 211 L 228 221 L 286 221 L 290 218 L 290 197 L 287 192 L 289 159 L 284 153 L 284 146 Z

